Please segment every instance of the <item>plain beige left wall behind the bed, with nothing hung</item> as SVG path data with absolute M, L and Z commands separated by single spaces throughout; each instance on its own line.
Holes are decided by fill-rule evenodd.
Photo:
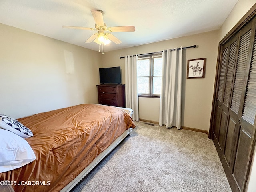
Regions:
M 0 113 L 20 118 L 97 103 L 100 53 L 0 24 Z

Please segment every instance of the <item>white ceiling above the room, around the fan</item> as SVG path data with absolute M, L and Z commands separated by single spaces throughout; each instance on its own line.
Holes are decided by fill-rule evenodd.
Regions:
M 84 43 L 94 31 L 90 10 L 102 10 L 110 26 L 134 25 L 135 32 L 113 32 L 121 44 L 104 52 L 219 29 L 238 0 L 0 0 L 0 23 L 92 50 Z M 190 45 L 184 45 L 190 46 Z

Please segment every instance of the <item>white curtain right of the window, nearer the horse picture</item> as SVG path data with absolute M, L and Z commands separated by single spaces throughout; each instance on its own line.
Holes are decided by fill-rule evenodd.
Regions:
M 181 127 L 182 47 L 163 51 L 159 125 Z

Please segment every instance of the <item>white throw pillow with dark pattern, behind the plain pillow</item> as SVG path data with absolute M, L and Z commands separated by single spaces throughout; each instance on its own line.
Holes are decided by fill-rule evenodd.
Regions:
M 4 114 L 0 114 L 0 128 L 13 132 L 22 138 L 33 136 L 33 133 L 29 128 L 25 127 L 16 119 L 10 118 Z

